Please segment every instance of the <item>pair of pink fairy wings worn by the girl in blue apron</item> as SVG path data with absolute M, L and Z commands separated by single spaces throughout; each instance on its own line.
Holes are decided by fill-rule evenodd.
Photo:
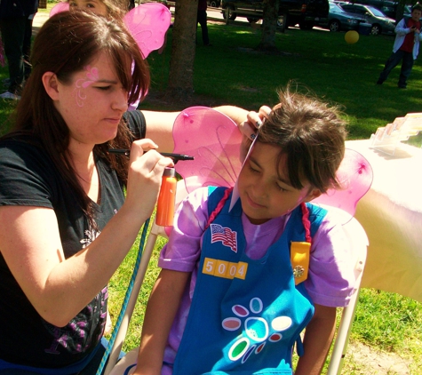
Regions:
M 181 161 L 176 171 L 185 180 L 187 192 L 203 186 L 235 186 L 242 169 L 240 145 L 242 135 L 227 116 L 206 107 L 182 111 L 173 125 L 174 152 L 194 156 Z M 346 149 L 337 172 L 339 189 L 330 189 L 313 203 L 345 211 L 345 222 L 354 216 L 356 204 L 372 184 L 370 163 L 358 152 Z

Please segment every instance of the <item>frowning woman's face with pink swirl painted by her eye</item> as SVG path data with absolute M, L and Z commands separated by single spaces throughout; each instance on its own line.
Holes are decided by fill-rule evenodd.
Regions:
M 75 73 L 70 83 L 57 81 L 57 89 L 50 96 L 68 124 L 71 145 L 88 148 L 115 138 L 128 107 L 128 92 L 105 52 Z

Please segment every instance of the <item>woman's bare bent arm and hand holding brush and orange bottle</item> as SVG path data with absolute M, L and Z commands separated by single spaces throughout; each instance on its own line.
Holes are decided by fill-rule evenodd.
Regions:
M 66 325 L 108 283 L 155 207 L 171 159 L 139 140 L 131 148 L 126 200 L 101 234 L 65 259 L 56 214 L 31 206 L 0 207 L 0 251 L 20 288 L 47 322 Z

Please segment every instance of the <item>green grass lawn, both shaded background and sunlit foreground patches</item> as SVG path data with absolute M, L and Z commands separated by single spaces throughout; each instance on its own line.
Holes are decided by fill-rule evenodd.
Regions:
M 394 69 L 385 84 L 375 84 L 391 52 L 392 36 L 361 36 L 357 44 L 346 44 L 344 33 L 289 28 L 276 36 L 281 53 L 262 54 L 253 51 L 260 36 L 253 28 L 210 24 L 209 32 L 213 46 L 206 48 L 199 44 L 196 48 L 193 100 L 197 98 L 197 104 L 229 103 L 256 110 L 262 104 L 275 104 L 277 88 L 295 79 L 325 100 L 342 106 L 349 121 L 349 139 L 367 139 L 379 126 L 391 123 L 397 116 L 418 112 L 421 107 L 422 67 L 418 61 L 407 90 L 396 86 L 399 68 Z M 201 40 L 200 30 L 198 40 Z M 153 78 L 150 98 L 165 90 L 170 55 L 171 31 L 163 54 L 152 52 L 148 57 Z M 7 69 L 0 68 L 0 81 L 5 77 Z M 141 109 L 184 108 L 177 100 L 163 105 L 162 101 L 150 98 L 141 104 Z M 0 101 L 0 133 L 9 128 L 4 120 L 12 108 L 12 102 Z M 420 142 L 420 137 L 415 139 Z M 163 243 L 160 239 L 155 246 L 124 350 L 139 344 L 147 296 L 159 271 L 155 265 Z M 113 321 L 119 313 L 137 249 L 135 243 L 110 281 L 109 308 Z M 422 304 L 394 293 L 364 289 L 354 320 L 352 342 L 397 353 L 409 363 L 410 373 L 418 374 L 422 368 L 421 327 Z M 344 373 L 364 373 L 359 370 L 359 363 L 349 361 L 346 358 Z

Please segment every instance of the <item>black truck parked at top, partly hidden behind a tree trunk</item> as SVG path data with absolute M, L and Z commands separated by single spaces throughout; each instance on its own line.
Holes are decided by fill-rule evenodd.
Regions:
M 223 0 L 223 17 L 235 20 L 246 17 L 250 22 L 261 20 L 264 12 L 263 0 Z M 328 19 L 328 0 L 280 0 L 277 25 L 279 27 L 299 24 L 302 29 L 315 26 L 316 22 Z

